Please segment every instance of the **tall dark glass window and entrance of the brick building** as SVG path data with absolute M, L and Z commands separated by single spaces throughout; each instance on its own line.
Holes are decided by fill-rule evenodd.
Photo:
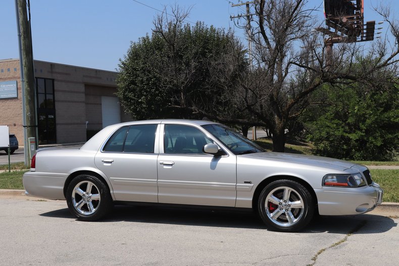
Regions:
M 54 80 L 36 78 L 39 144 L 56 143 Z

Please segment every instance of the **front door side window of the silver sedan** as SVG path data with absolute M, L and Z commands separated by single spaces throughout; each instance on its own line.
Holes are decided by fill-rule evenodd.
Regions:
M 165 153 L 170 154 L 206 154 L 203 148 L 213 143 L 196 128 L 182 125 L 165 125 Z

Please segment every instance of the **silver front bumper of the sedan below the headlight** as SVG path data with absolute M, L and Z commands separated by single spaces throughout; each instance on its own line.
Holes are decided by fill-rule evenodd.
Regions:
M 315 192 L 320 215 L 356 215 L 381 204 L 384 191 L 373 182 L 359 188 L 323 187 Z

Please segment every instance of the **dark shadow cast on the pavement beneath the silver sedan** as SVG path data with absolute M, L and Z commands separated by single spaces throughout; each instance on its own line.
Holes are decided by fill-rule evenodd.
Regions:
M 45 212 L 40 216 L 74 219 L 68 208 Z M 100 223 L 131 222 L 174 224 L 186 226 L 226 227 L 267 230 L 261 219 L 252 211 L 229 211 L 210 209 L 172 208 L 161 206 L 117 205 L 112 213 Z M 357 234 L 377 234 L 396 227 L 388 217 L 379 215 L 316 216 L 299 233 L 348 234 L 358 228 Z

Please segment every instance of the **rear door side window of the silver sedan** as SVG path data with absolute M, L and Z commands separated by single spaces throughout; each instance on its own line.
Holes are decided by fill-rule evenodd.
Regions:
M 103 151 L 154 153 L 157 125 L 137 125 L 119 129 Z

